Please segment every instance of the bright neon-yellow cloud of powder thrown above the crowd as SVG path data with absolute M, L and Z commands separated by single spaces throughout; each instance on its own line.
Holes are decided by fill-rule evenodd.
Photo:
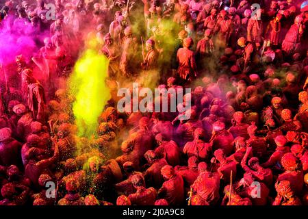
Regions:
M 75 96 L 73 113 L 79 137 L 91 138 L 98 126 L 98 117 L 110 99 L 110 90 L 105 85 L 109 60 L 88 49 L 77 60 L 68 86 Z

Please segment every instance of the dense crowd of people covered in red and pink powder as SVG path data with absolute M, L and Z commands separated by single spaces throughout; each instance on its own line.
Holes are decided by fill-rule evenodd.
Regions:
M 308 205 L 307 1 L 1 5 L 0 53 L 10 34 L 35 49 L 1 58 L 0 205 Z M 90 138 L 67 86 L 88 47 L 112 96 Z M 121 113 L 134 81 L 192 92 Z

